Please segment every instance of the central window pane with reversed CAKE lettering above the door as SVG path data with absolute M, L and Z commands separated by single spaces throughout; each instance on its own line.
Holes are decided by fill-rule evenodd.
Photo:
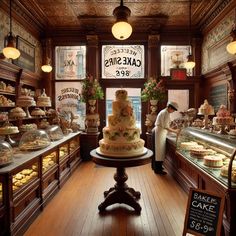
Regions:
M 144 46 L 102 46 L 102 78 L 144 78 Z

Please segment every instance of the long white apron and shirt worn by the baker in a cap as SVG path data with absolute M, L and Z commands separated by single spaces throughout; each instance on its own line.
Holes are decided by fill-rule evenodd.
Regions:
M 167 108 L 161 110 L 155 122 L 155 161 L 163 161 L 166 153 L 166 136 L 170 124 Z

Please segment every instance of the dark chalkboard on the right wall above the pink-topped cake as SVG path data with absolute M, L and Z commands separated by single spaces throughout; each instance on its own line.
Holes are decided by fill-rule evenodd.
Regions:
M 209 94 L 209 103 L 218 111 L 220 105 L 227 107 L 227 84 L 217 85 L 211 88 Z

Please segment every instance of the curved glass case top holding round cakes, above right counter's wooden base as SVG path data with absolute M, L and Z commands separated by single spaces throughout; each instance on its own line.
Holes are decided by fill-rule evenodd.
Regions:
M 236 139 L 230 135 L 187 127 L 181 130 L 176 142 L 177 153 L 227 187 L 228 169 L 232 160 L 230 185 L 236 188 Z

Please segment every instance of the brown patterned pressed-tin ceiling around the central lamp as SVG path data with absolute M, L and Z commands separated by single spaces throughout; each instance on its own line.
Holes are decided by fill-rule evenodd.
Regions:
M 3 0 L 7 2 L 7 0 Z M 221 12 L 235 0 L 192 0 L 192 24 L 197 27 Z M 101 31 L 114 22 L 113 10 L 120 0 L 15 0 L 47 28 L 91 28 Z M 134 30 L 160 26 L 186 27 L 189 24 L 188 0 L 124 0 L 130 8 Z

